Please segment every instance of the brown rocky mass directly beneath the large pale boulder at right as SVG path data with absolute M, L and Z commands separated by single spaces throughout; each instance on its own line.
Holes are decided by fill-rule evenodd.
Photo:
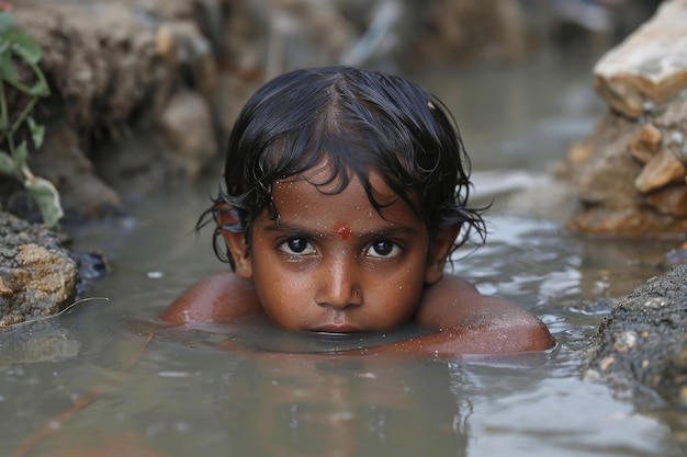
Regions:
M 685 117 L 678 122 L 680 115 Z M 583 146 L 571 148 L 567 172 L 562 175 L 576 185 L 579 206 L 568 218 L 570 230 L 633 236 L 685 233 L 687 183 L 680 161 L 685 146 L 676 128 L 687 128 L 687 102 L 673 101 L 647 117 L 654 127 L 609 111 Z M 685 127 L 676 127 L 680 124 Z M 647 134 L 649 129 L 655 132 Z M 658 133 L 662 139 L 655 146 Z M 638 160 L 635 149 L 643 150 L 649 160 L 645 164 Z M 654 149 L 656 156 L 650 158 L 646 152 Z

